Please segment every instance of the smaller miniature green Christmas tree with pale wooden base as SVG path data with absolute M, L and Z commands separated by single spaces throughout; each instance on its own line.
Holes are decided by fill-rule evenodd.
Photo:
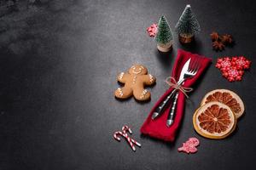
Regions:
M 155 41 L 158 44 L 160 51 L 169 51 L 172 46 L 172 30 L 166 20 L 165 16 L 162 16 L 158 22 L 157 33 Z

